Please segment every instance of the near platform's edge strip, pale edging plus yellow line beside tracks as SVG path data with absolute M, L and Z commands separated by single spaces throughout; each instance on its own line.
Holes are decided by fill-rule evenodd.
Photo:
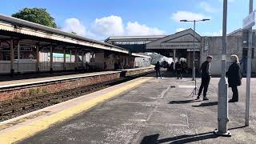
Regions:
M 13 143 L 32 136 L 41 130 L 46 130 L 56 122 L 62 122 L 82 111 L 89 110 L 100 102 L 114 98 L 126 90 L 132 89 L 150 78 L 137 78 L 104 90 L 98 90 L 82 97 L 74 98 L 54 106 L 46 107 L 18 118 L 0 122 L 0 143 Z

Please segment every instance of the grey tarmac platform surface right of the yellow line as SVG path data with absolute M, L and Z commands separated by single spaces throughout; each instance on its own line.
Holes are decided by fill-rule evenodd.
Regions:
M 211 79 L 210 101 L 195 101 L 191 78 L 164 74 L 18 143 L 256 143 L 256 79 L 250 126 L 244 127 L 246 78 L 238 89 L 240 101 L 229 105 L 230 138 L 213 134 L 218 127 L 218 80 Z

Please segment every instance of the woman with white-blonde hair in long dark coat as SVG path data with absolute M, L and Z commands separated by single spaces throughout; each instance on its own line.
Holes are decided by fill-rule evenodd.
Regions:
M 238 86 L 241 86 L 242 82 L 242 74 L 240 70 L 238 56 L 233 54 L 230 57 L 231 66 L 229 70 L 226 72 L 226 76 L 228 78 L 229 87 L 231 87 L 233 92 L 233 98 L 230 99 L 229 102 L 238 102 Z

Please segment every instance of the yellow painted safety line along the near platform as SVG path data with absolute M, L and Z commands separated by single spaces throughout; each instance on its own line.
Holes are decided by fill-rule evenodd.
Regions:
M 150 78 L 142 78 L 139 79 L 136 82 L 132 82 L 126 86 L 122 86 L 121 88 L 118 88 L 116 90 L 112 90 L 107 94 L 104 94 L 102 96 L 98 96 L 96 98 L 91 99 L 87 102 L 82 102 L 81 104 L 78 104 L 77 106 L 71 107 L 66 110 L 62 110 L 56 114 L 52 114 L 46 118 L 42 118 L 38 121 L 31 122 L 30 125 L 27 126 L 21 126 L 18 129 L 8 131 L 5 134 L 0 134 L 0 144 L 8 144 L 20 141 L 24 138 L 28 138 L 34 134 L 37 134 L 39 131 L 46 130 L 50 126 L 52 126 L 56 122 L 62 122 L 66 118 L 70 118 L 74 116 L 75 114 L 79 114 L 84 110 L 89 110 L 91 107 L 96 106 L 100 102 L 104 102 L 107 99 L 113 98 L 114 96 L 117 96 L 118 94 L 122 94 L 122 92 L 126 90 L 130 90 L 131 88 L 134 88 L 135 86 L 138 86 L 142 84 L 143 82 L 148 81 Z

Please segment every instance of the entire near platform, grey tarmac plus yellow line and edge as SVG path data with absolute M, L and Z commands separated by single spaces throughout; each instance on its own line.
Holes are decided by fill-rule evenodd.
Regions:
M 255 143 L 254 97 L 250 126 L 244 126 L 245 78 L 239 102 L 229 104 L 232 137 L 213 134 L 218 80 L 212 78 L 210 100 L 202 101 L 190 96 L 191 78 L 177 80 L 168 72 L 162 79 L 146 75 L 1 122 L 0 143 Z

